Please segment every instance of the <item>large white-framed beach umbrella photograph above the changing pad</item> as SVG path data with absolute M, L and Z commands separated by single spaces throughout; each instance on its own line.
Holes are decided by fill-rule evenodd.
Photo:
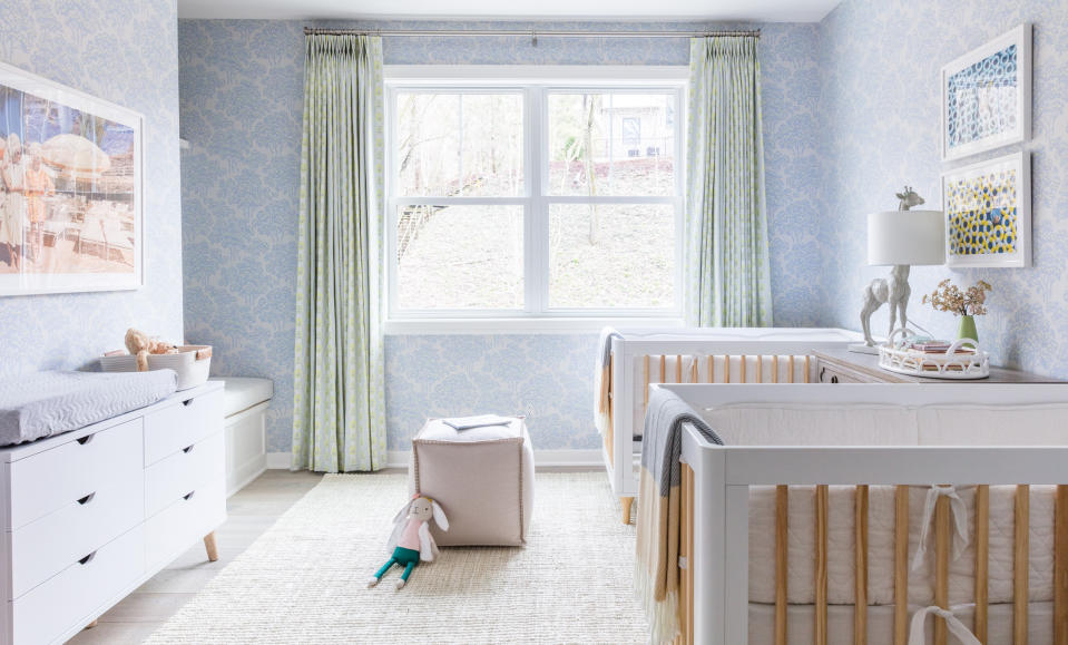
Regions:
M 144 117 L 0 63 L 0 295 L 144 285 Z

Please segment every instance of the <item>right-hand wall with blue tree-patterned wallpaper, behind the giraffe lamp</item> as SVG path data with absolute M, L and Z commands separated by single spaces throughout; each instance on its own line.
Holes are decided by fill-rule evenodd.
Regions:
M 846 0 L 820 26 L 820 104 L 825 109 L 821 237 L 831 293 L 827 324 L 860 329 L 860 294 L 889 267 L 865 262 L 865 214 L 896 207 L 905 183 L 939 206 L 945 168 L 1016 152 L 1020 146 L 942 165 L 939 69 L 1009 31 L 1035 23 L 1032 158 L 1033 266 L 914 267 L 910 317 L 941 336 L 958 320 L 920 304 L 944 277 L 993 285 L 979 339 L 998 363 L 1068 378 L 1068 3 L 1045 0 Z M 873 329 L 885 333 L 886 307 Z M 878 323 L 878 324 L 876 324 Z

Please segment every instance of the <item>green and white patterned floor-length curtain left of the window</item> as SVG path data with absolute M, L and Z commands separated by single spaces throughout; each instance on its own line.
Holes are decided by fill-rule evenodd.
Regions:
M 385 466 L 382 41 L 307 35 L 294 469 Z

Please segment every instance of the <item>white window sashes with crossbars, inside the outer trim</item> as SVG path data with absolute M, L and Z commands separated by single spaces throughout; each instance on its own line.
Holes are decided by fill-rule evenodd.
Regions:
M 574 74 L 574 70 L 571 70 Z M 683 150 L 685 85 L 650 81 L 641 85 L 618 82 L 588 82 L 576 80 L 574 85 L 547 82 L 487 82 L 478 78 L 457 78 L 451 82 L 427 84 L 400 80 L 386 88 L 386 235 L 388 257 L 388 319 L 391 321 L 418 321 L 433 319 L 492 320 L 492 319 L 672 319 L 683 314 L 683 185 L 685 154 Z M 394 194 L 399 178 L 393 144 L 396 134 L 395 108 L 399 94 L 512 94 L 523 96 L 523 195 L 506 197 L 447 197 L 404 196 Z M 549 195 L 549 110 L 551 94 L 672 94 L 675 97 L 675 194 L 665 196 Z M 537 188 L 537 189 L 536 189 Z M 675 212 L 675 266 L 674 306 L 672 307 L 550 307 L 549 306 L 549 208 L 552 204 L 669 204 Z M 501 205 L 521 206 L 523 209 L 523 307 L 517 310 L 471 309 L 401 309 L 398 304 L 398 213 L 408 205 Z

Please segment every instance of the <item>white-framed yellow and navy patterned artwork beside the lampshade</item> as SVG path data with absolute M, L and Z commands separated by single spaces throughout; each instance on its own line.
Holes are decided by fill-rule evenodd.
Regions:
M 942 174 L 948 266 L 1029 266 L 1031 159 L 1016 153 Z

